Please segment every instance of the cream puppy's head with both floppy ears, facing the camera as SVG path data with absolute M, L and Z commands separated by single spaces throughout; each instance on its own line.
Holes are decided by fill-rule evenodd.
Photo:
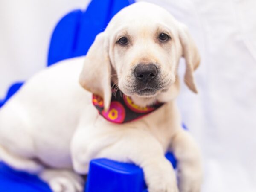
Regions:
M 97 35 L 80 84 L 102 96 L 105 109 L 110 104 L 111 81 L 125 95 L 157 100 L 177 82 L 181 56 L 186 60 L 186 85 L 197 93 L 193 71 L 200 57 L 186 27 L 159 6 L 134 3 Z

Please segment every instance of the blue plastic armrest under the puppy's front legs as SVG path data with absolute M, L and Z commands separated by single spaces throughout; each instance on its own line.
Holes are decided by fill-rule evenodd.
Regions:
M 176 167 L 172 153 L 166 158 Z M 131 163 L 119 163 L 109 159 L 90 162 L 86 192 L 147 192 L 143 170 Z

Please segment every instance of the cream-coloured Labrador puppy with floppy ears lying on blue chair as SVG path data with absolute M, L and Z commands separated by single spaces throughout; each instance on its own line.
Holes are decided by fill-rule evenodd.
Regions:
M 199 192 L 200 154 L 175 104 L 182 56 L 186 85 L 196 93 L 193 72 L 200 58 L 186 27 L 150 3 L 122 9 L 85 57 L 36 74 L 1 108 L 0 159 L 37 174 L 54 192 L 82 191 L 79 174 L 99 157 L 140 166 L 149 192 Z M 162 105 L 140 119 L 110 122 L 104 114 L 112 86 L 139 111 Z M 93 105 L 92 93 L 105 111 Z M 177 158 L 177 180 L 166 151 Z

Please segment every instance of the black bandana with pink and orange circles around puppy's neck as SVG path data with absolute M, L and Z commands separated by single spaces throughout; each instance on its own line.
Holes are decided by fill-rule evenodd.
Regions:
M 110 122 L 125 123 L 142 118 L 145 115 L 160 108 L 164 103 L 156 103 L 152 106 L 140 107 L 135 105 L 131 97 L 123 94 L 115 85 L 112 88 L 111 103 L 108 111 L 104 111 L 103 99 L 93 94 L 93 105 L 99 114 Z

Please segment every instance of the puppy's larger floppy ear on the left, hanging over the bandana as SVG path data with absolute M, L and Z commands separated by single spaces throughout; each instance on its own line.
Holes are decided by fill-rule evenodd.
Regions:
M 79 82 L 84 89 L 99 95 L 108 110 L 111 100 L 111 63 L 108 55 L 109 43 L 104 32 L 99 33 L 84 61 Z

